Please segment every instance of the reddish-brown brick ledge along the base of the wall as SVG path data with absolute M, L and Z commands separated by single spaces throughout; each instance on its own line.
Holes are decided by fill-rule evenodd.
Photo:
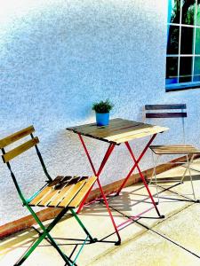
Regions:
M 200 158 L 199 155 L 196 155 L 196 158 Z M 175 160 L 172 160 L 171 162 L 173 162 L 174 164 L 162 164 L 157 166 L 156 168 L 156 174 L 160 174 L 163 173 L 166 170 L 169 170 L 171 168 L 177 167 L 179 166 L 179 164 L 177 164 L 177 161 L 184 161 L 186 160 L 186 157 L 180 157 L 177 158 Z M 148 179 L 153 172 L 153 168 L 149 168 L 145 171 L 142 172 L 143 176 L 145 176 L 146 179 Z M 123 183 L 124 179 L 118 180 L 112 184 L 107 184 L 103 187 L 103 190 L 106 194 L 111 193 L 111 192 L 116 192 L 117 188 Z M 127 183 L 125 184 L 125 187 L 130 186 L 132 184 L 136 184 L 140 182 L 140 175 L 139 174 L 135 174 L 132 175 L 129 180 L 127 181 Z M 100 190 L 99 189 L 95 189 L 91 192 L 88 201 L 92 201 L 96 198 L 98 198 L 100 196 Z M 38 215 L 38 217 L 40 218 L 41 221 L 45 221 L 45 220 L 49 220 L 52 219 L 54 216 L 58 215 L 60 212 L 60 208 L 46 208 L 43 209 L 39 212 L 37 212 L 36 214 Z M 35 219 L 33 218 L 32 215 L 28 215 L 28 216 L 24 216 L 16 221 L 13 221 L 11 223 L 5 223 L 4 225 L 0 226 L 0 239 L 3 239 L 5 237 L 8 237 L 9 235 L 11 235 L 12 233 L 18 232 L 18 231 L 22 231 L 24 229 L 27 229 L 29 227 L 31 227 L 32 225 L 36 224 Z

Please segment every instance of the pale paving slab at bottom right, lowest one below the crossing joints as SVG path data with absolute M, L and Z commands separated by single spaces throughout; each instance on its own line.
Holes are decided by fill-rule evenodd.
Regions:
M 199 263 L 196 256 L 148 231 L 108 255 L 99 257 L 90 266 L 197 266 Z

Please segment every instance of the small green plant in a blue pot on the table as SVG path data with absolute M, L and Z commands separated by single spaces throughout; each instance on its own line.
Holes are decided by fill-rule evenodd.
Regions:
M 93 104 L 92 110 L 96 112 L 96 122 L 98 127 L 108 126 L 109 111 L 113 106 L 114 105 L 108 99 Z

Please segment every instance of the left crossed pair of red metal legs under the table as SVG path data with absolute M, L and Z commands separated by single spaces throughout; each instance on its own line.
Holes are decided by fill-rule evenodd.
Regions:
M 90 162 L 90 165 L 91 165 L 91 167 L 92 167 L 93 174 L 94 174 L 95 176 L 97 176 L 97 183 L 98 183 L 98 185 L 99 185 L 99 187 L 100 187 L 101 196 L 102 196 L 102 198 L 103 198 L 103 200 L 104 200 L 104 203 L 105 203 L 105 205 L 106 205 L 106 207 L 107 207 L 107 209 L 108 209 L 108 214 L 109 214 L 110 219 L 111 219 L 111 221 L 112 221 L 112 223 L 113 223 L 113 226 L 114 226 L 114 228 L 115 228 L 116 235 L 117 235 L 117 238 L 118 238 L 118 241 L 116 242 L 116 246 L 117 246 L 117 245 L 120 245 L 120 244 L 121 244 L 121 237 L 120 237 L 119 232 L 118 232 L 118 229 L 117 229 L 117 227 L 116 227 L 116 222 L 115 222 L 115 220 L 114 220 L 114 218 L 113 218 L 113 215 L 112 215 L 112 213 L 111 213 L 111 211 L 110 211 L 110 208 L 109 208 L 109 206 L 108 206 L 108 200 L 107 200 L 107 198 L 106 198 L 106 196 L 105 196 L 105 193 L 103 192 L 102 186 L 101 186 L 101 184 L 100 184 L 100 173 L 101 173 L 102 169 L 104 168 L 106 162 L 108 161 L 108 158 L 109 158 L 110 154 L 113 152 L 113 150 L 114 150 L 114 148 L 115 148 L 115 145 L 114 145 L 114 144 L 110 144 L 110 145 L 108 146 L 108 150 L 107 150 L 107 152 L 105 153 L 105 156 L 104 156 L 103 160 L 102 160 L 101 163 L 100 163 L 100 168 L 99 168 L 99 170 L 98 170 L 98 172 L 97 172 L 97 171 L 95 170 L 94 166 L 93 166 L 92 159 L 91 159 L 90 154 L 88 153 L 88 150 L 87 150 L 87 148 L 86 148 L 86 145 L 84 144 L 84 139 L 83 139 L 83 137 L 82 137 L 80 134 L 78 134 L 78 137 L 80 138 L 81 143 L 82 143 L 82 145 L 83 145 L 83 147 L 84 147 L 84 152 L 86 153 L 87 158 L 88 158 L 88 160 L 89 160 L 89 162 Z M 91 190 L 85 195 L 84 200 L 82 201 L 81 205 L 79 206 L 79 208 L 78 208 L 78 210 L 77 210 L 77 213 L 79 213 L 79 212 L 81 211 L 81 209 L 84 207 L 84 202 L 85 202 L 85 200 L 87 199 L 87 197 L 89 196 L 89 193 L 90 193 L 91 191 L 92 191 L 92 188 L 91 188 Z

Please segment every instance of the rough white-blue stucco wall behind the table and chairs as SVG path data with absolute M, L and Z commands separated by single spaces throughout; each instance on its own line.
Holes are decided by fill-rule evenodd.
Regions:
M 52 176 L 92 174 L 77 136 L 65 128 L 94 121 L 91 106 L 100 99 L 115 103 L 112 118 L 135 121 L 142 121 L 145 104 L 187 103 L 188 140 L 199 145 L 199 90 L 164 89 L 166 0 L 0 4 L 0 137 L 33 124 Z M 170 133 L 157 142 L 175 141 L 180 135 L 181 122 L 169 122 Z M 108 145 L 85 141 L 98 166 Z M 136 154 L 147 141 L 132 142 Z M 125 176 L 132 167 L 127 155 L 123 145 L 116 148 L 102 184 Z M 12 166 L 27 196 L 45 180 L 34 149 L 13 160 Z M 149 152 L 141 167 L 152 167 Z M 0 224 L 28 215 L 3 162 L 0 187 Z

